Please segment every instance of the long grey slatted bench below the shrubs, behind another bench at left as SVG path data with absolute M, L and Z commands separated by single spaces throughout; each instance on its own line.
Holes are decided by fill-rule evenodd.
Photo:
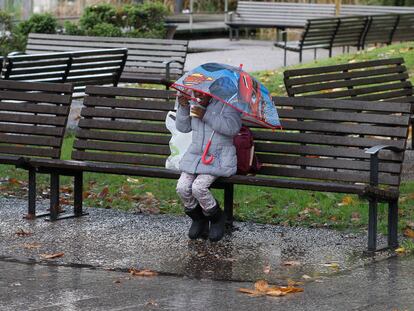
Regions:
M 112 38 L 52 34 L 29 35 L 26 53 L 127 48 L 121 82 L 163 84 L 167 87 L 184 72 L 188 41 Z

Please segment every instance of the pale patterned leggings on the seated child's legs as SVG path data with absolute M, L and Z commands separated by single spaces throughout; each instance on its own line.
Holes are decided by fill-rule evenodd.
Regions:
M 216 205 L 216 199 L 209 188 L 216 179 L 217 177 L 213 175 L 194 175 L 182 172 L 176 190 L 184 207 L 193 209 L 200 203 L 204 211 L 213 208 Z

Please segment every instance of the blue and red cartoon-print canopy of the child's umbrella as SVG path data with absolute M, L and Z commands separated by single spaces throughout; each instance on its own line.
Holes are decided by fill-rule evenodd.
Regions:
M 241 66 L 206 63 L 187 72 L 172 87 L 189 97 L 191 90 L 208 94 L 240 111 L 249 122 L 281 127 L 269 91 Z

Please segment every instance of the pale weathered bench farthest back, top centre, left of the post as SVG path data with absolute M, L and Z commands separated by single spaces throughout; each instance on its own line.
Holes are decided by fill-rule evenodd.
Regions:
M 308 19 L 335 15 L 332 4 L 238 1 L 235 12 L 229 12 L 226 24 L 230 39 L 240 28 L 304 28 Z

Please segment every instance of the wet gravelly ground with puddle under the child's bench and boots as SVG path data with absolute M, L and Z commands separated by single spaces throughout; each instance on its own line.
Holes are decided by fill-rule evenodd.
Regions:
M 46 201 L 38 206 L 46 209 Z M 188 217 L 142 215 L 88 208 L 88 216 L 46 222 L 26 220 L 26 200 L 0 199 L 0 256 L 215 280 L 271 282 L 336 274 L 390 256 L 363 255 L 366 233 L 236 223 L 219 243 L 187 238 Z M 30 236 L 19 236 L 23 230 Z M 380 236 L 379 245 L 385 245 Z M 49 260 L 50 261 L 50 260 Z

